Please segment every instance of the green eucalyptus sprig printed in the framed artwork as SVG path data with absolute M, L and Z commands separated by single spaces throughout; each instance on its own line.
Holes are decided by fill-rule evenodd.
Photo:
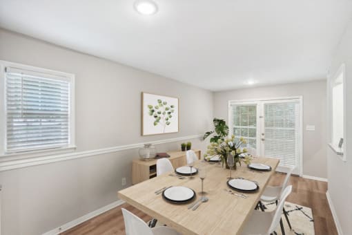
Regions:
M 157 100 L 157 104 L 148 104 L 149 115 L 154 118 L 154 126 L 162 126 L 163 133 L 165 133 L 166 126 L 171 124 L 171 119 L 175 112 L 175 105 L 168 105 L 168 102 Z

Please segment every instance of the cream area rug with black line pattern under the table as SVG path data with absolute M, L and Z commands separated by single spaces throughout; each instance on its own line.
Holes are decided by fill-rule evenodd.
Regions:
M 264 204 L 267 212 L 275 209 L 275 203 Z M 303 207 L 294 203 L 285 202 L 284 205 L 286 212 L 289 214 L 289 220 L 292 226 L 290 231 L 289 224 L 286 222 L 284 214 L 282 214 L 282 223 L 286 235 L 314 235 L 314 220 L 312 210 L 309 207 Z M 280 225 L 276 229 L 277 235 L 282 235 Z

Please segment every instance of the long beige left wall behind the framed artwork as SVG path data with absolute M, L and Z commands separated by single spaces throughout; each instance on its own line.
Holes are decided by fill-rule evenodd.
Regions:
M 213 94 L 172 79 L 0 30 L 0 59 L 76 75 L 77 152 L 204 133 Z M 141 136 L 141 91 L 179 97 L 179 133 Z M 193 139 L 204 149 L 205 142 Z M 161 144 L 158 151 L 179 148 Z M 0 172 L 1 234 L 41 234 L 117 200 L 137 149 Z

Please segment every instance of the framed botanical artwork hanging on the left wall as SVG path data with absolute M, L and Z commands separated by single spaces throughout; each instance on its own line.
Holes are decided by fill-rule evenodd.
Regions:
M 141 93 L 141 135 L 179 131 L 179 99 L 166 95 Z

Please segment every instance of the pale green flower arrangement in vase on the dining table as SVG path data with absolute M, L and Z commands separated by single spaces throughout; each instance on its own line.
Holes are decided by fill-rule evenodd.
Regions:
M 226 160 L 227 156 L 231 154 L 235 159 L 234 169 L 236 169 L 237 162 L 239 165 L 241 165 L 241 162 L 250 164 L 251 158 L 249 156 L 245 156 L 244 158 L 239 157 L 240 154 L 247 152 L 247 149 L 241 149 L 242 144 L 246 144 L 246 140 L 244 140 L 244 138 L 239 138 L 239 141 L 235 142 L 235 135 L 232 135 L 231 138 L 219 139 L 217 142 L 211 142 L 208 145 L 208 150 L 206 151 L 204 158 L 210 160 L 213 156 L 219 156 L 222 165 L 224 166 L 224 164 L 226 164 L 226 168 L 228 168 Z

